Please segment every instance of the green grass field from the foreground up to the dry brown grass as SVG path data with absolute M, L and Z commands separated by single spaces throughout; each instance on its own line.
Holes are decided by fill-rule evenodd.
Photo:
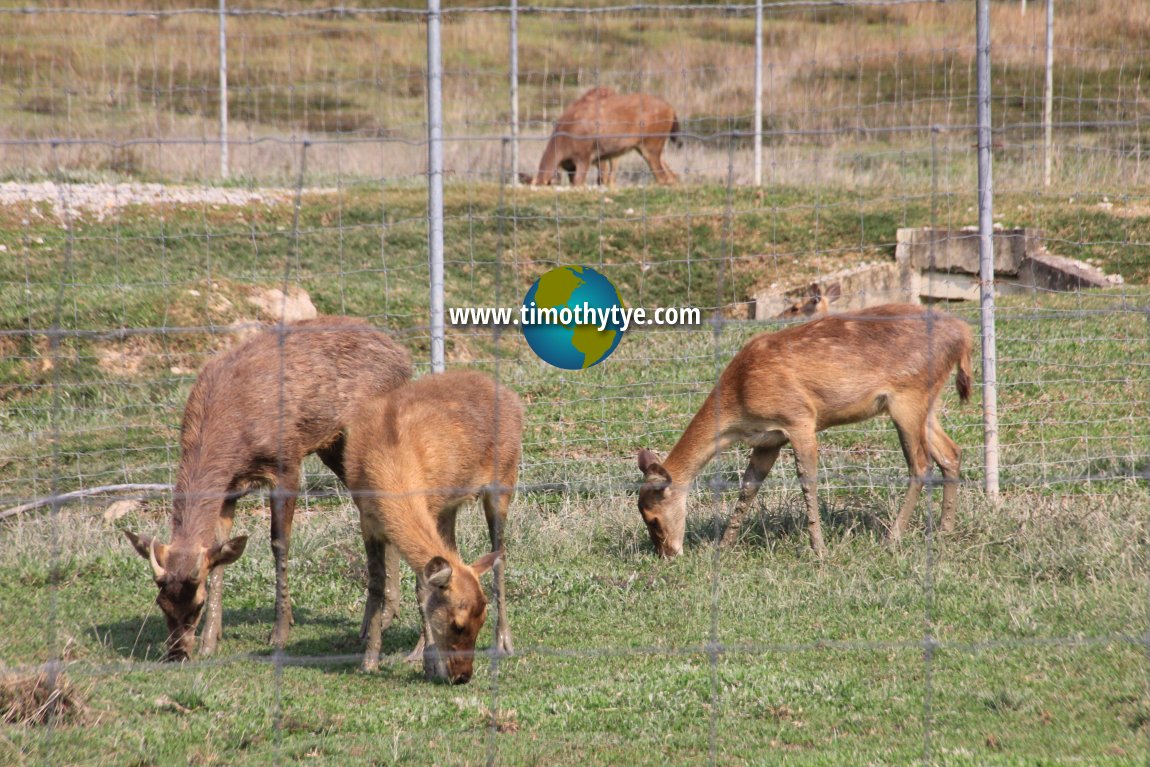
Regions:
M 300 286 L 322 312 L 371 317 L 424 366 L 423 195 L 305 195 L 298 218 L 290 204 L 140 207 L 69 229 L 6 209 L 0 325 L 21 332 L 2 340 L 0 497 L 170 482 L 194 370 L 231 323 L 259 319 L 246 301 L 256 287 Z M 635 512 L 634 457 L 668 450 L 734 351 L 777 327 L 738 320 L 739 302 L 890 258 L 898 225 L 931 209 L 967 223 L 965 205 L 448 186 L 448 305 L 513 304 L 551 264 L 582 262 L 635 306 L 731 317 L 718 333 L 632 333 L 574 374 L 513 335 L 452 332 L 450 366 L 496 373 L 527 406 L 508 539 L 516 654 L 485 659 L 463 688 L 424 682 L 401 660 L 417 631 L 405 574 L 386 662 L 358 672 L 355 514 L 309 460 L 284 654 L 266 644 L 274 569 L 254 497 L 237 527 L 258 543 L 227 574 L 221 655 L 158 664 L 154 586 L 120 529 L 166 535 L 166 501 L 106 524 L 106 501 L 91 500 L 0 528 L 0 661 L 24 674 L 62 660 L 83 704 L 48 724 L 0 727 L 0 762 L 1144 764 L 1150 252 L 1138 244 L 1150 215 L 1098 202 L 999 202 L 1043 227 L 1056 252 L 1127 284 L 1000 301 L 997 506 L 980 490 L 980 408 L 949 386 L 942 421 L 966 451 L 956 534 L 925 534 L 935 498 L 902 546 L 883 543 L 905 478 L 894 429 L 876 421 L 825 435 L 825 561 L 807 549 L 788 457 L 741 544 L 715 551 L 733 496 L 711 488 L 737 481 L 739 450 L 700 477 L 687 552 L 664 562 Z M 976 321 L 973 307 L 953 310 Z M 47 328 L 66 332 L 53 343 Z M 482 527 L 463 515 L 465 554 L 485 545 Z

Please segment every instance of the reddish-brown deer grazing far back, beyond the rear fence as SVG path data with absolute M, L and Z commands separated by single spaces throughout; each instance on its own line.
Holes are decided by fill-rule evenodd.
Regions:
M 592 164 L 599 182 L 614 182 L 614 160 L 636 149 L 660 184 L 674 184 L 675 174 L 664 163 L 662 151 L 670 139 L 678 145 L 678 118 L 674 108 L 645 93 L 615 93 L 591 89 L 559 116 L 539 160 L 536 186 L 554 182 L 562 169 L 572 185 L 582 186 Z

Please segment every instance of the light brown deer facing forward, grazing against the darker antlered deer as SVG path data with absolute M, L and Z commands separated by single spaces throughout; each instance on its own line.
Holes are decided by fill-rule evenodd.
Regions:
M 494 569 L 496 649 L 512 651 L 504 588 L 503 529 L 519 474 L 523 409 L 486 375 L 457 370 L 420 378 L 363 402 L 347 428 L 344 466 L 366 545 L 391 543 L 416 574 L 428 676 L 471 678 L 475 638 L 486 619 L 480 575 Z M 455 514 L 482 498 L 491 553 L 466 565 Z M 368 572 L 378 588 L 378 569 Z M 378 664 L 382 621 L 366 620 L 363 668 Z M 417 649 L 416 649 L 417 650 Z

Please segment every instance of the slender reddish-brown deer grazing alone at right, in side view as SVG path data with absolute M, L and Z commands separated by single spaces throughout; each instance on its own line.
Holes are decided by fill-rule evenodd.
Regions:
M 927 461 L 942 469 L 942 528 L 954 527 L 960 450 L 938 424 L 945 378 L 965 402 L 971 394 L 971 330 L 965 322 L 919 306 L 889 304 L 756 336 L 731 359 L 687 431 L 662 462 L 638 455 L 644 483 L 639 512 L 662 557 L 682 551 L 691 480 L 723 447 L 750 443 L 751 462 L 721 539 L 734 543 L 743 517 L 788 442 L 806 501 L 811 546 L 826 553 L 819 522 L 818 442 L 829 427 L 890 414 L 910 469 L 902 509 L 890 528 L 898 539 L 922 491 Z

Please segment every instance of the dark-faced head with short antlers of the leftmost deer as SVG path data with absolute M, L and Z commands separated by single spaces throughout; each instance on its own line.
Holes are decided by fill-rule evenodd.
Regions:
M 214 567 L 239 559 L 247 545 L 247 536 L 232 538 L 212 549 L 177 549 L 130 530 L 124 530 L 124 535 L 136 552 L 152 563 L 152 578 L 160 588 L 155 604 L 168 621 L 168 654 L 164 660 L 187 660 L 195 647 L 195 626 L 207 601 L 208 574 Z

